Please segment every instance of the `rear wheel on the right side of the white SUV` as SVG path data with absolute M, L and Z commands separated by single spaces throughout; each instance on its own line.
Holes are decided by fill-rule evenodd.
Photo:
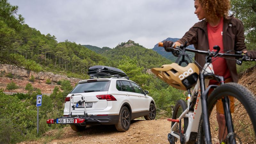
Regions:
M 119 113 L 118 123 L 115 124 L 116 130 L 119 132 L 125 132 L 129 129 L 131 124 L 131 112 L 127 107 L 123 107 Z

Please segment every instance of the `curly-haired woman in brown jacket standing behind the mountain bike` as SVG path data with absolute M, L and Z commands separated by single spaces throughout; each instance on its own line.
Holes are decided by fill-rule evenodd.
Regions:
M 256 58 L 256 52 L 246 50 L 244 43 L 244 26 L 242 22 L 233 16 L 228 16 L 230 7 L 229 0 L 195 0 L 195 14 L 200 22 L 197 22 L 189 29 L 185 35 L 173 43 L 165 41 L 164 47 L 175 47 L 175 45 L 194 44 L 195 49 L 207 51 L 213 50 L 213 46 L 218 45 L 221 51 L 234 50 L 242 51 L 252 59 Z M 216 51 L 216 50 L 214 50 Z M 234 53 L 234 52 L 230 52 Z M 225 82 L 237 82 L 235 60 L 217 58 L 212 62 L 214 73 L 224 76 Z M 233 58 L 235 59 L 235 58 Z M 195 60 L 200 65 L 200 70 L 205 63 L 205 56 L 196 54 Z M 216 81 L 210 81 L 210 84 L 218 84 Z M 226 138 L 225 116 L 221 100 L 216 104 L 217 121 L 219 124 L 220 142 Z M 234 98 L 230 97 L 230 111 L 234 112 Z

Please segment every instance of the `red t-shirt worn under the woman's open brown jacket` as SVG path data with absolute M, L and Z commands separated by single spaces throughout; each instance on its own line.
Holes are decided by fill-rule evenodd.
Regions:
M 213 46 L 219 45 L 220 52 L 224 53 L 223 51 L 223 39 L 222 39 L 222 31 L 223 31 L 223 17 L 220 19 L 220 23 L 212 27 L 209 23 L 207 23 L 207 33 L 208 33 L 208 41 L 210 51 L 216 51 L 213 49 Z M 230 72 L 228 69 L 227 62 L 224 58 L 216 57 L 212 59 L 212 65 L 215 75 L 224 76 L 224 78 L 230 77 Z M 216 82 L 216 81 L 215 81 Z M 214 81 L 210 81 L 210 83 L 214 83 Z

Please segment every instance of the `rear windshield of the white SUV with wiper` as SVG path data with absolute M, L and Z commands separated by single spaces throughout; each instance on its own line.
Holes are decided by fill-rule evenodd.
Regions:
M 110 81 L 85 82 L 77 84 L 70 93 L 82 93 L 84 91 L 102 92 L 108 91 Z

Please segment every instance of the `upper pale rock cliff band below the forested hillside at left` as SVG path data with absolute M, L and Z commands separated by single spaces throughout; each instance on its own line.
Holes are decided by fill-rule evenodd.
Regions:
M 46 80 L 50 79 L 52 82 L 58 82 L 62 79 L 64 80 L 69 80 L 70 83 L 77 83 L 81 79 L 79 78 L 73 78 L 73 77 L 67 77 L 67 76 L 62 76 L 58 74 L 53 74 L 51 72 L 34 72 L 34 71 L 28 71 L 23 68 L 17 68 L 13 65 L 0 65 L 0 71 L 5 71 L 6 73 L 12 73 L 12 75 L 16 76 L 24 76 L 24 77 L 31 77 L 34 76 L 37 79 L 40 80 Z

